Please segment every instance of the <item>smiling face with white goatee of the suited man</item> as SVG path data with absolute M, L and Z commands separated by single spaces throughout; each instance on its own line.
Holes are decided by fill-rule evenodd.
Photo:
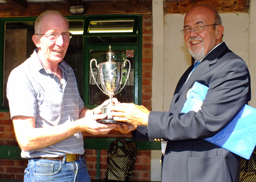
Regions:
M 192 29 L 198 25 L 210 25 L 198 33 L 193 30 L 184 35 L 185 44 L 195 60 L 202 60 L 215 46 L 222 42 L 223 26 L 215 24 L 215 12 L 206 6 L 197 6 L 188 11 L 184 28 Z

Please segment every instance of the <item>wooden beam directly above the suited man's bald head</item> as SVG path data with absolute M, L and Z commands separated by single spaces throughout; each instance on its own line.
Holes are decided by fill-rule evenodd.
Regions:
M 198 4 L 207 4 L 215 8 L 219 13 L 241 13 L 249 12 L 249 0 L 178 0 L 164 2 L 165 14 L 185 14 L 187 11 Z

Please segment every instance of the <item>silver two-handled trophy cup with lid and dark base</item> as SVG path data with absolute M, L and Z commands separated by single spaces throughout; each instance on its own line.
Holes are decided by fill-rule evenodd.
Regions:
M 93 61 L 95 61 L 95 65 L 98 68 L 99 71 L 99 76 L 100 76 L 100 82 L 101 82 L 101 87 L 102 89 L 99 87 L 99 85 L 97 84 L 97 86 L 99 87 L 99 89 L 105 93 L 106 95 L 109 96 L 109 103 L 105 106 L 103 106 L 101 108 L 101 111 L 103 114 L 107 114 L 108 117 L 105 119 L 99 119 L 97 120 L 98 123 L 120 123 L 120 124 L 127 124 L 127 122 L 119 122 L 113 119 L 113 116 L 111 115 L 111 108 L 114 107 L 113 104 L 113 96 L 116 95 L 117 93 L 119 93 L 125 86 L 129 74 L 130 74 L 130 69 L 131 69 L 131 63 L 129 60 L 124 60 L 124 63 L 117 63 L 114 62 L 113 60 L 113 55 L 114 52 L 111 51 L 111 46 L 109 45 L 109 51 L 106 53 L 106 55 L 108 55 L 108 60 L 107 62 L 104 63 L 99 63 L 97 65 L 97 60 L 96 59 L 92 59 L 90 62 L 90 68 L 91 68 L 91 74 L 93 76 L 93 79 L 95 81 L 95 83 L 97 84 L 94 75 L 93 75 L 93 69 L 91 67 L 91 63 Z M 128 71 L 128 75 L 126 78 L 126 81 L 124 83 L 123 88 L 121 88 L 120 91 L 119 88 L 121 87 L 121 83 L 122 83 L 122 77 L 123 77 L 123 68 L 125 67 L 125 63 L 129 62 L 129 71 Z

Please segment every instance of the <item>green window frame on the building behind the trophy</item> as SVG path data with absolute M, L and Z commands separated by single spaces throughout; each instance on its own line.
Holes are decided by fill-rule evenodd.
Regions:
M 83 101 L 87 108 L 94 108 L 98 104 L 89 104 L 89 75 L 90 75 L 90 55 L 89 50 L 109 50 L 109 43 L 89 43 L 89 37 L 104 36 L 104 37 L 120 37 L 120 36 L 137 36 L 135 43 L 111 43 L 112 50 L 129 49 L 134 50 L 134 103 L 142 104 L 142 15 L 72 15 L 65 16 L 70 21 L 83 21 Z M 3 106 L 4 97 L 4 42 L 5 42 L 5 23 L 6 22 L 24 22 L 35 21 L 37 17 L 6 17 L 0 18 L 0 112 L 9 112 L 8 106 Z M 85 30 L 88 30 L 91 20 L 134 20 L 133 32 L 129 33 L 97 33 L 90 35 Z M 25 61 L 25 60 L 24 60 Z M 88 74 L 87 74 L 88 73 Z

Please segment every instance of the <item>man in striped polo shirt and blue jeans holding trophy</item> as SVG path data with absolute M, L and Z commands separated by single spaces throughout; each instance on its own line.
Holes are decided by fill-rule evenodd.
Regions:
M 84 107 L 74 71 L 63 60 L 71 37 L 65 17 L 43 12 L 32 37 L 37 49 L 8 79 L 16 138 L 29 159 L 24 181 L 90 181 L 81 132 L 107 134 L 117 126 L 95 121 L 106 117 L 99 107 Z

